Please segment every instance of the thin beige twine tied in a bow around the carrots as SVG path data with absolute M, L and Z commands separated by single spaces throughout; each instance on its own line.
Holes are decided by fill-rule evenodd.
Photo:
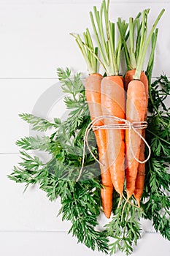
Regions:
M 96 126 L 95 124 L 98 121 L 101 121 L 102 119 L 112 119 L 114 121 L 121 121 L 122 124 L 104 124 L 101 126 Z M 82 155 L 82 166 L 80 169 L 80 174 L 77 178 L 77 181 L 79 181 L 81 175 L 82 175 L 82 169 L 84 167 L 84 163 L 85 163 L 85 147 L 87 146 L 90 154 L 93 156 L 93 158 L 96 160 L 96 162 L 98 162 L 99 165 L 104 166 L 104 164 L 102 162 L 100 162 L 96 156 L 93 154 L 93 152 L 90 149 L 90 146 L 88 144 L 88 135 L 90 130 L 92 129 L 93 132 L 98 130 L 98 129 L 128 129 L 128 138 L 129 138 L 129 148 L 131 149 L 131 153 L 134 157 L 134 159 L 139 162 L 140 164 L 144 164 L 145 162 L 147 162 L 150 159 L 150 155 L 151 155 L 151 149 L 149 144 L 147 143 L 147 141 L 144 139 L 144 137 L 137 131 L 137 129 L 146 129 L 147 128 L 147 121 L 128 121 L 126 119 L 123 118 L 119 118 L 117 116 L 98 116 L 96 118 L 93 119 L 93 121 L 90 122 L 90 124 L 88 124 L 88 127 L 85 129 L 85 138 L 84 138 L 84 146 L 83 146 L 83 155 Z M 139 159 L 136 158 L 135 154 L 134 154 L 134 150 L 132 148 L 131 145 L 131 133 L 132 131 L 134 131 L 136 133 L 136 135 L 139 136 L 139 138 L 141 138 L 144 141 L 144 144 L 147 146 L 148 148 L 148 156 L 147 159 L 145 159 L 144 161 L 140 161 Z

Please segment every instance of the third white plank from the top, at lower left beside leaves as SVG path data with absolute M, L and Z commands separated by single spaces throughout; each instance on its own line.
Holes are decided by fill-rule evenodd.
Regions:
M 20 162 L 16 154 L 0 154 L 0 230 L 69 230 L 69 222 L 57 217 L 60 200 L 50 202 L 38 186 L 29 187 L 23 194 L 24 184 L 16 184 L 7 175 Z

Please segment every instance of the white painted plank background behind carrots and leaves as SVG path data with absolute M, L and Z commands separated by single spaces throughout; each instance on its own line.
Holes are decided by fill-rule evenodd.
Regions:
M 91 252 L 67 235 L 69 223 L 56 217 L 60 202 L 50 203 L 44 192 L 9 181 L 19 159 L 15 140 L 29 135 L 29 127 L 18 118 L 31 113 L 36 102 L 58 82 L 57 67 L 86 72 L 80 51 L 69 35 L 90 25 L 88 12 L 101 1 L 0 0 L 0 255 L 66 256 L 102 255 Z M 150 7 L 150 23 L 162 8 L 153 77 L 170 77 L 170 1 L 111 0 L 111 18 L 128 18 Z M 45 102 L 44 102 L 45 103 Z M 55 116 L 62 114 L 55 108 Z M 39 110 L 39 109 L 38 109 Z M 37 110 L 37 111 L 38 111 Z M 58 112 L 57 112 L 58 110 Z M 42 115 L 41 110 L 37 115 Z M 48 113 L 50 116 L 50 113 Z M 144 222 L 142 239 L 133 255 L 169 255 L 170 244 Z M 117 254 L 122 255 L 122 254 Z

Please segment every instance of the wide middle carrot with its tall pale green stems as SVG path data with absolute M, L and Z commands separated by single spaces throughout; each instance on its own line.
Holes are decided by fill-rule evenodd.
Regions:
M 90 12 L 90 19 L 93 31 L 98 42 L 98 50 L 101 53 L 99 60 L 104 67 L 107 77 L 101 81 L 101 108 L 104 116 L 116 116 L 125 118 L 125 91 L 123 86 L 123 77 L 119 75 L 120 52 L 122 49 L 122 40 L 118 39 L 115 47 L 115 23 L 111 23 L 108 17 L 109 1 L 106 4 L 104 0 L 101 4 L 101 10 L 96 7 Z M 94 18 L 95 17 L 95 18 Z M 104 20 L 104 21 L 103 21 Z M 104 34 L 104 27 L 107 34 Z M 128 25 L 123 23 L 124 34 Z M 120 123 L 120 122 L 118 122 Z M 104 118 L 104 124 L 117 124 L 112 118 Z M 123 187 L 125 181 L 125 130 L 107 129 L 107 156 L 109 162 L 109 171 L 112 178 L 112 184 L 123 197 Z

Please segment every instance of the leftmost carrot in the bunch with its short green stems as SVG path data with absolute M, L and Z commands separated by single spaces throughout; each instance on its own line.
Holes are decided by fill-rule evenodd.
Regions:
M 101 80 L 102 75 L 97 72 L 97 49 L 93 48 L 93 42 L 90 37 L 90 32 L 86 29 L 83 34 L 85 42 L 77 35 L 76 42 L 82 51 L 82 55 L 88 65 L 89 76 L 85 79 L 85 96 L 88 102 L 88 108 L 90 111 L 90 118 L 98 118 L 102 116 L 101 110 Z M 103 125 L 103 121 L 96 122 L 96 126 Z M 107 135 L 105 129 L 96 129 L 94 131 L 96 137 L 96 143 L 98 146 L 98 159 L 103 165 L 100 165 L 101 169 L 101 203 L 104 214 L 107 218 L 112 213 L 112 192 L 113 185 L 109 172 L 109 165 L 107 159 Z

